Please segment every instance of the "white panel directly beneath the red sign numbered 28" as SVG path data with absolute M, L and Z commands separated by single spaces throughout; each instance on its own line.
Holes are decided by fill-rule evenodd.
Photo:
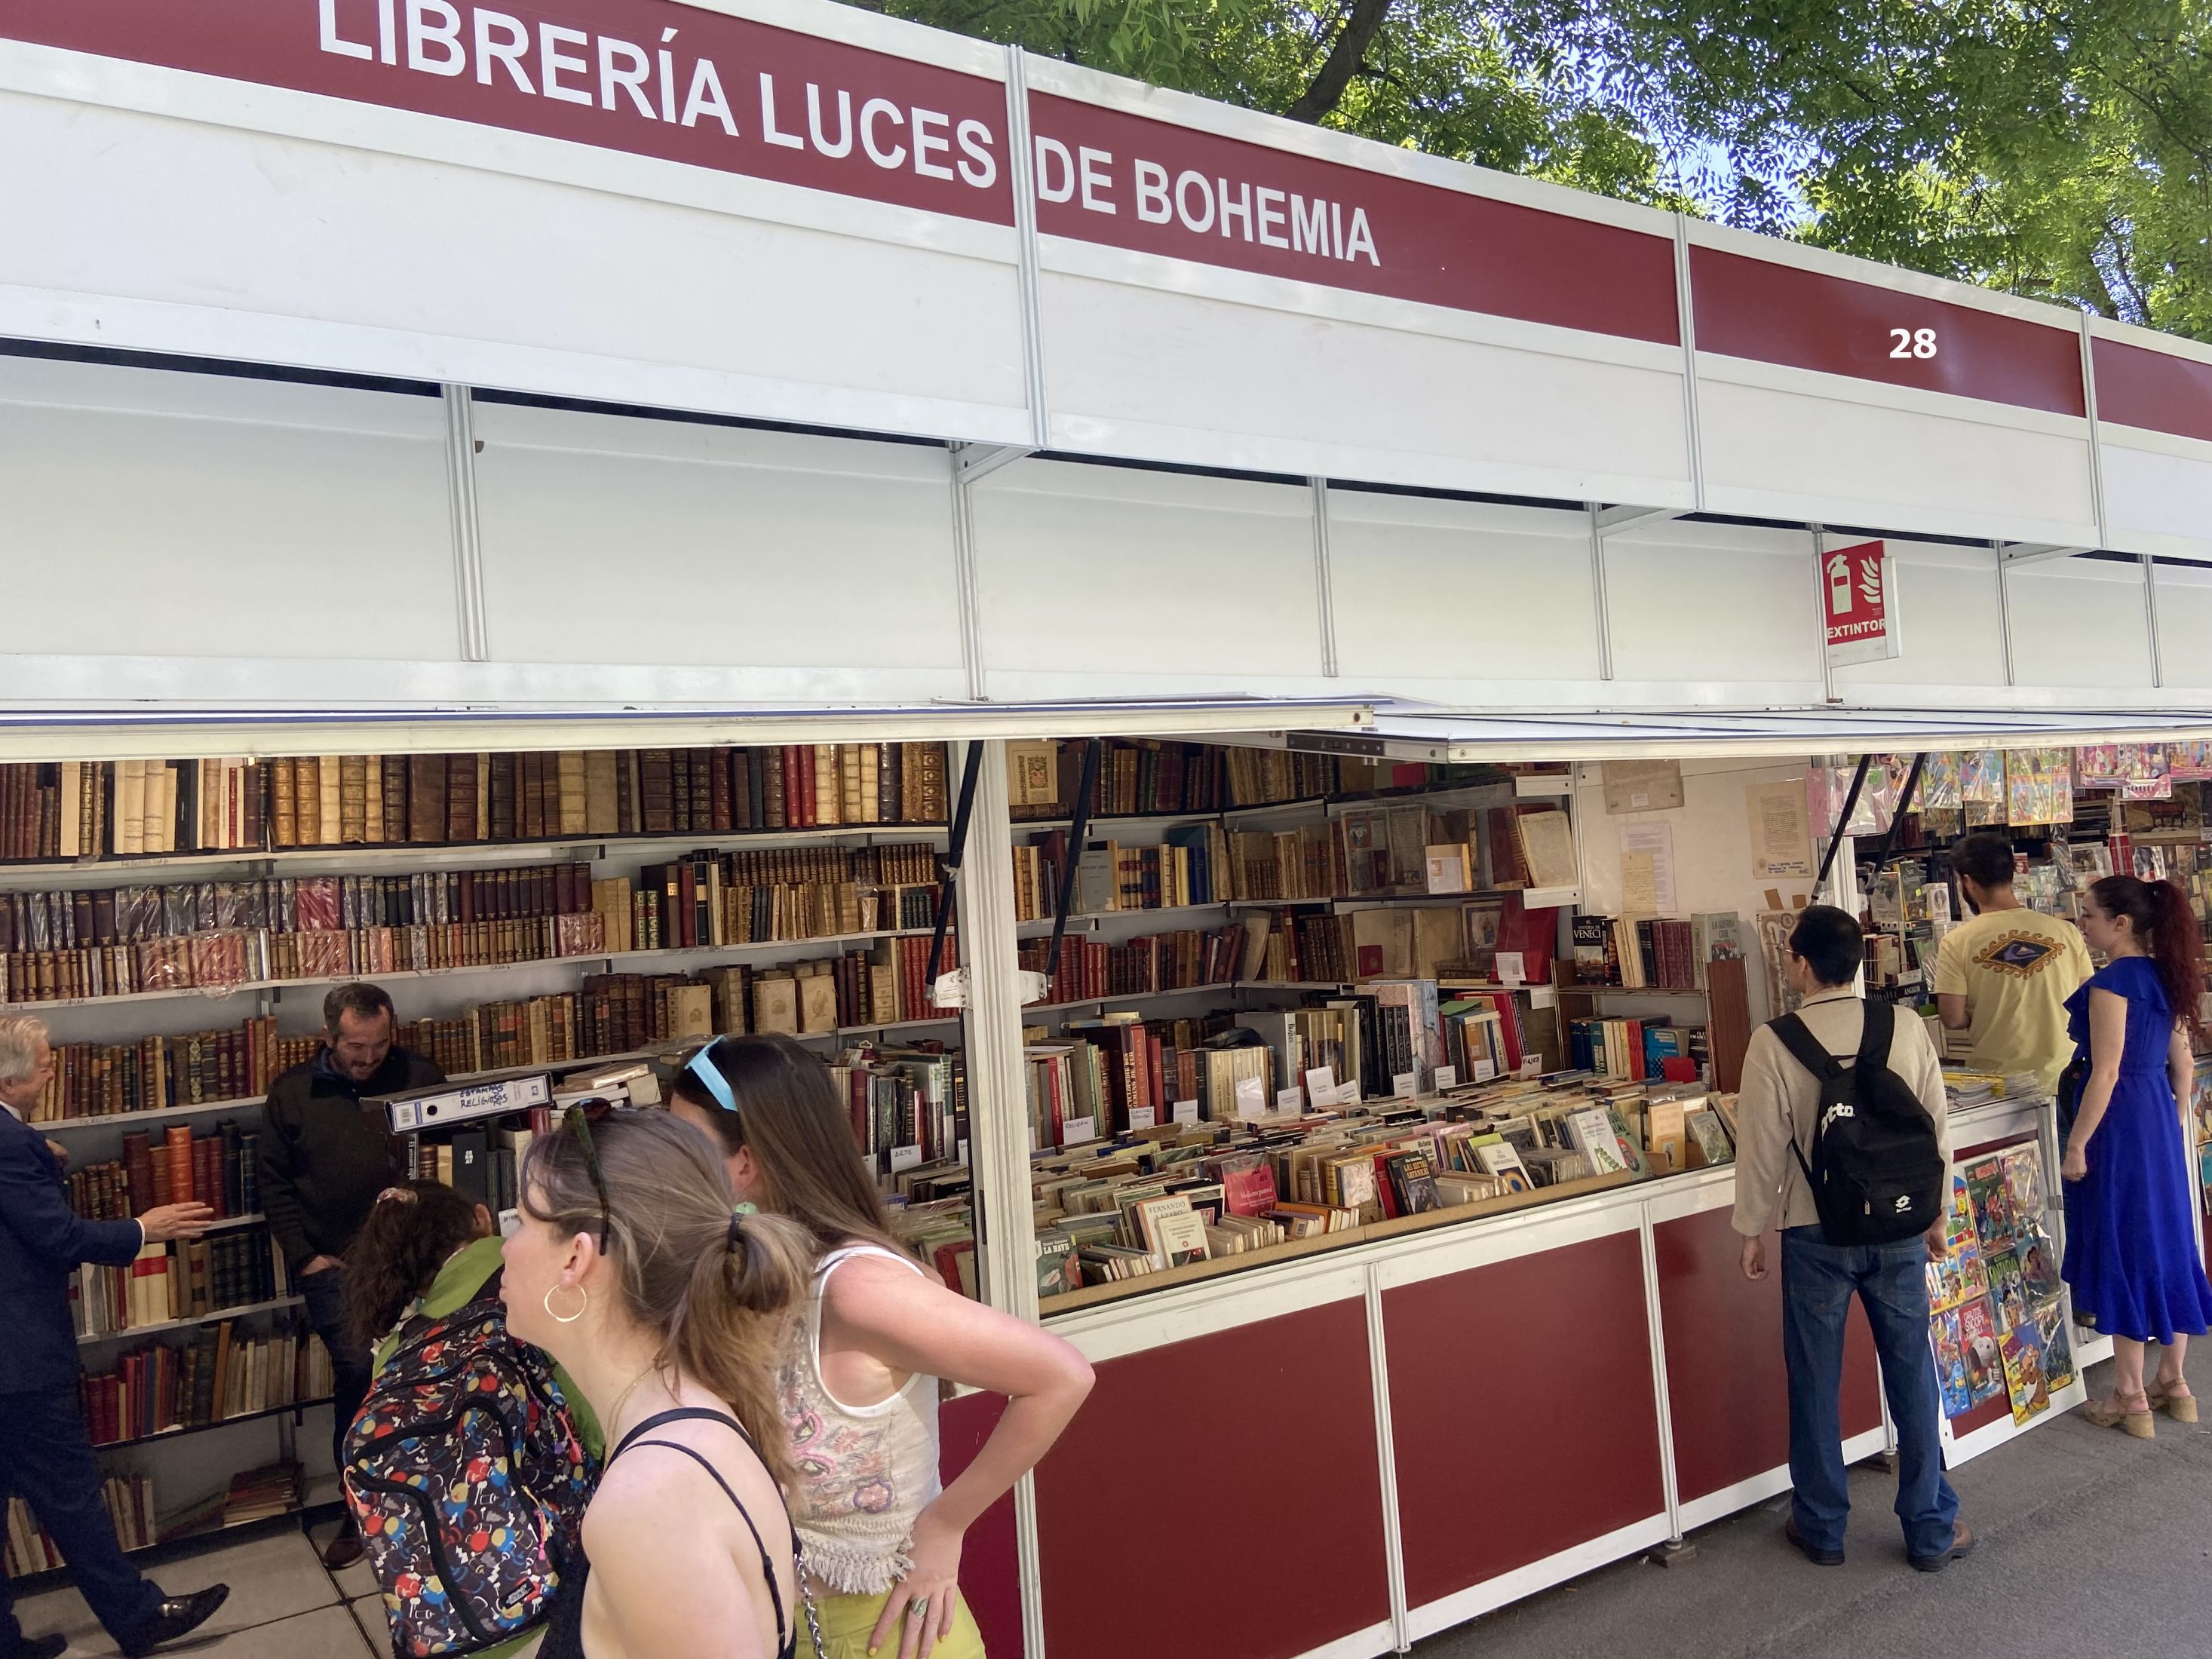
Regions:
M 2093 546 L 2088 427 L 1699 354 L 1705 507 L 1747 518 Z M 1825 383 L 1825 385 L 1823 385 Z M 2004 418 L 1975 418 L 1986 407 Z

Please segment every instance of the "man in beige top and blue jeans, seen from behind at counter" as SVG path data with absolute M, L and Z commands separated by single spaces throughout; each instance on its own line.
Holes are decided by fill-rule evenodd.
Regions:
M 1790 936 L 1787 973 L 1803 998 L 1798 1015 L 1838 1060 L 1858 1055 L 1865 1004 L 1854 989 L 1865 960 L 1858 922 L 1832 905 L 1809 905 Z M 1911 1013 L 1896 1020 L 1889 1071 L 1936 1119 L 1947 1139 L 1942 1062 L 1927 1026 Z M 1958 1522 L 1958 1493 L 1942 1473 L 1942 1396 L 1929 1360 L 1927 1261 L 1944 1252 L 1942 1219 L 1924 1237 L 1891 1245 L 1832 1245 L 1820 1212 L 1790 1150 L 1812 1159 L 1820 1082 L 1801 1066 L 1772 1029 L 1761 1026 L 1743 1055 L 1736 1099 L 1736 1232 L 1743 1276 L 1767 1276 L 1767 1230 L 1783 1230 L 1783 1358 L 1790 1365 L 1790 1480 L 1796 1498 L 1787 1540 L 1816 1566 L 1843 1564 L 1843 1528 L 1851 1493 L 1843 1469 L 1843 1323 L 1851 1294 L 1867 1310 L 1882 1389 L 1898 1429 L 1898 1520 L 1905 1555 L 1922 1573 L 1940 1573 L 1973 1548 Z M 1949 1183 L 1947 1183 L 1949 1190 Z

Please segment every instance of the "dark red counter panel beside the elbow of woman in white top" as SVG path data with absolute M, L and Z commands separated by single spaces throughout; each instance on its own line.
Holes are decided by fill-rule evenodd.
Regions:
M 1290 1659 L 1389 1619 L 1365 1303 L 1099 1363 L 1037 1553 L 1053 1659 Z

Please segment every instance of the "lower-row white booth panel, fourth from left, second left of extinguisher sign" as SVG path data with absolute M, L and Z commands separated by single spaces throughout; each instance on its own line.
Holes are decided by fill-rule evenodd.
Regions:
M 1582 513 L 1329 491 L 1338 672 L 1378 690 L 1540 686 L 1601 672 Z

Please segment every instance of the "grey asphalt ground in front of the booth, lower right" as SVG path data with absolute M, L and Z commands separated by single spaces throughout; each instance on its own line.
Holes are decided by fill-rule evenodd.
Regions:
M 2090 1371 L 2090 1394 L 2110 1367 Z M 2212 1354 L 2190 1356 L 2212 1396 Z M 2212 1655 L 2212 1411 L 2130 1440 L 2077 1416 L 1953 1475 L 1982 1537 L 1940 1575 L 1905 1566 L 1876 1464 L 1851 1473 L 1849 1562 L 1781 1537 L 1787 1498 L 1697 1533 L 1677 1568 L 1621 1562 L 1422 1641 L 1420 1659 L 2079 1659 Z

